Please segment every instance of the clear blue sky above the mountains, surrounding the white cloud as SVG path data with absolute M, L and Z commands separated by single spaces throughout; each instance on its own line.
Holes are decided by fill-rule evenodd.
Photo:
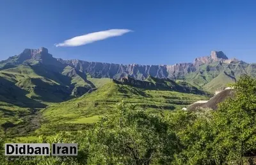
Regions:
M 0 0 L 0 59 L 47 47 L 54 57 L 108 63 L 191 62 L 212 50 L 256 62 L 256 1 Z M 131 32 L 76 47 L 75 36 Z

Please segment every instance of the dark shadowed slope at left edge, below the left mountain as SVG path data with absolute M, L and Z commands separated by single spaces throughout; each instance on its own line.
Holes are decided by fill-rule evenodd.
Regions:
M 15 83 L 0 77 L 0 101 L 20 107 L 46 107 L 45 104 L 26 97 L 28 91 L 15 86 Z

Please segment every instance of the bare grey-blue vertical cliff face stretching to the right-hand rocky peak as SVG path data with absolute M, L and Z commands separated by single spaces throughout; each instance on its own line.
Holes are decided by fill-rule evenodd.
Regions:
M 149 75 L 158 78 L 168 77 L 170 79 L 180 79 L 184 75 L 195 72 L 199 66 L 206 63 L 213 63 L 216 61 L 229 63 L 232 59 L 228 59 L 223 52 L 212 51 L 210 56 L 196 58 L 194 63 L 177 63 L 175 65 L 122 65 L 113 63 L 97 63 L 81 61 L 78 59 L 63 60 L 58 59 L 61 63 L 65 63 L 75 67 L 81 72 L 86 72 L 93 77 L 109 77 L 113 78 L 115 75 L 127 74 L 135 79 L 144 80 Z

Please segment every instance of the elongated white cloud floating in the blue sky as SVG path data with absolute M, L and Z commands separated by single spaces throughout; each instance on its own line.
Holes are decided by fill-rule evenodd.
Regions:
M 88 43 L 93 43 L 99 40 L 105 40 L 113 36 L 122 36 L 125 33 L 129 33 L 129 29 L 110 29 L 106 31 L 98 31 L 95 33 L 88 33 L 83 36 L 75 36 L 74 38 L 65 40 L 62 43 L 55 43 L 56 47 L 77 47 L 81 45 L 86 45 Z

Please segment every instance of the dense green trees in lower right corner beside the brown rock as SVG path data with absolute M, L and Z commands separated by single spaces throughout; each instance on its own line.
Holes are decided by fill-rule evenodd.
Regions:
M 244 76 L 234 88 L 236 97 L 221 103 L 218 111 L 180 115 L 189 123 L 177 132 L 184 146 L 180 163 L 243 164 L 256 155 L 256 80 Z

